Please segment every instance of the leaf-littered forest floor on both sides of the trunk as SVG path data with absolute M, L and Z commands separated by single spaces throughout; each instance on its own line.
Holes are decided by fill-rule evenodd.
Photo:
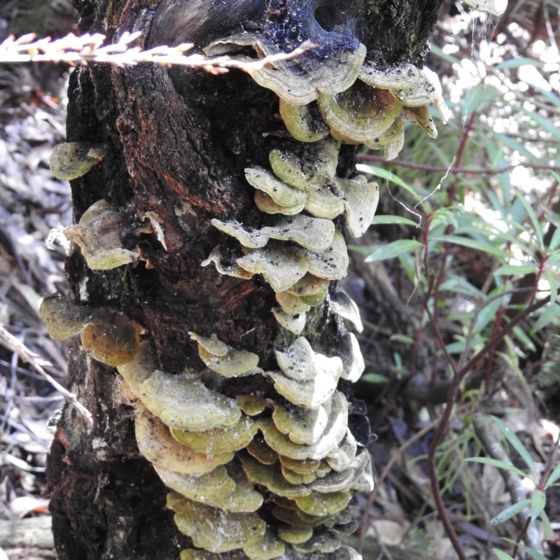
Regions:
M 65 291 L 64 252 L 58 246 L 46 248 L 45 239 L 53 228 L 71 223 L 69 185 L 57 181 L 48 164 L 52 147 L 65 137 L 66 78 L 66 69 L 55 66 L 0 66 L 0 560 L 56 557 L 43 491 L 51 428 L 64 396 L 36 365 L 64 384 L 66 350 L 46 334 L 37 306 L 42 295 Z M 364 243 L 391 240 L 384 239 L 386 234 L 370 232 Z M 465 275 L 480 269 L 477 257 L 462 255 Z M 454 560 L 428 464 L 449 379 L 428 373 L 439 359 L 430 344 L 423 349 L 423 371 L 402 365 L 410 351 L 402 340 L 414 334 L 412 325 L 421 317 L 412 286 L 390 261 L 365 263 L 360 253 L 353 253 L 352 260 L 346 290 L 360 307 L 366 373 L 374 374 L 356 393 L 367 402 L 378 436 L 370 444 L 376 487 L 370 496 L 356 499 L 363 524 L 353 544 L 365 560 Z M 442 328 L 453 331 L 451 324 Z M 538 362 L 540 356 L 531 359 Z M 491 442 L 485 444 L 484 437 L 498 441 L 495 430 L 484 421 L 473 422 L 473 416 L 500 416 L 517 433 L 540 475 L 560 461 L 555 447 L 560 392 L 557 386 L 540 391 L 522 374 L 503 372 L 499 379 L 478 379 L 461 388 L 461 395 L 435 456 L 437 478 L 447 522 L 466 556 L 486 560 L 493 557 L 493 547 L 507 549 L 501 538 L 516 540 L 525 523 L 522 514 L 498 526 L 490 520 L 512 500 L 530 496 L 534 484 L 529 477 L 512 482 L 491 465 L 465 461 L 488 454 Z M 528 470 L 520 456 L 510 456 Z M 549 559 L 560 555 L 556 490 L 547 491 L 552 540 L 545 539 L 539 523 L 524 531 L 525 542 Z

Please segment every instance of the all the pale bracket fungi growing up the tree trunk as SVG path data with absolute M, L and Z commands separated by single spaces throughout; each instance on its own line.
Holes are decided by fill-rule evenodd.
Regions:
M 497 13 L 504 2 L 467 3 Z M 217 1 L 204 3 L 204 10 L 195 2 L 190 10 L 189 2 L 163 0 L 151 41 L 176 44 L 189 40 L 182 29 L 211 27 L 204 20 L 207 4 L 209 13 L 222 9 Z M 261 13 L 257 0 L 232 4 L 244 15 Z M 222 238 L 202 262 L 239 279 L 258 276 L 274 290 L 271 312 L 279 335 L 266 366 L 263 356 L 215 333 L 190 332 L 203 374 L 165 372 L 150 333 L 124 314 L 59 297 L 41 304 L 52 337 L 79 335 L 85 351 L 123 377 L 136 409 L 139 450 L 171 490 L 167 505 L 192 541 L 181 560 L 361 558 L 342 538 L 356 529 L 352 496 L 373 486 L 365 447 L 369 428 L 365 437 L 349 428 L 355 403 L 345 390 L 360 377 L 364 362 L 342 319 L 358 331 L 362 326 L 356 304 L 333 281 L 348 267 L 344 235 L 359 237 L 367 230 L 379 188 L 365 176 L 337 176 L 339 148 L 365 144 L 394 158 L 404 142 L 405 121 L 435 137 L 430 106 L 444 122 L 449 111 L 433 72 L 407 63 L 374 64 L 352 26 L 321 25 L 318 14 L 324 18 L 338 4 L 268 2 L 262 20 L 250 26 L 254 31 L 237 32 L 245 27 L 228 20 L 235 31 L 205 49 L 208 55 L 244 60 L 251 59 L 251 50 L 262 57 L 289 52 L 303 41 L 314 45 L 300 57 L 277 58 L 251 74 L 278 95 L 291 138 L 276 141 L 266 165 L 244 170 L 262 212 L 259 223 L 244 223 L 239 216 L 212 220 Z M 356 18 L 352 10 L 358 4 L 335 12 Z M 162 29 L 172 31 L 172 40 Z M 74 179 L 104 153 L 100 146 L 63 144 L 53 153 L 53 172 Z M 151 226 L 159 238 L 158 224 Z M 64 237 L 90 268 L 110 269 L 141 258 L 139 251 L 122 247 L 132 230 L 134 224 L 102 200 Z M 317 337 L 309 321 L 319 315 L 323 324 L 338 317 L 332 323 L 336 342 L 328 352 L 310 342 Z M 231 378 L 251 376 L 265 380 L 265 395 L 221 393 Z

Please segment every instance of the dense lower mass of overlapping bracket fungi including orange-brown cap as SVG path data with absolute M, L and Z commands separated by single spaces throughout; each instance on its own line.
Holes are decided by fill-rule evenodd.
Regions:
M 181 560 L 360 558 L 341 544 L 356 529 L 351 496 L 372 488 L 369 452 L 337 390 L 350 375 L 346 360 L 297 337 L 276 351 L 278 371 L 264 371 L 255 353 L 190 332 L 218 377 L 265 375 L 278 393 L 228 398 L 199 374 L 159 370 L 142 326 L 112 309 L 50 296 L 40 313 L 53 338 L 80 335 L 125 380 L 139 450 L 172 491 L 167 505 L 195 547 Z

